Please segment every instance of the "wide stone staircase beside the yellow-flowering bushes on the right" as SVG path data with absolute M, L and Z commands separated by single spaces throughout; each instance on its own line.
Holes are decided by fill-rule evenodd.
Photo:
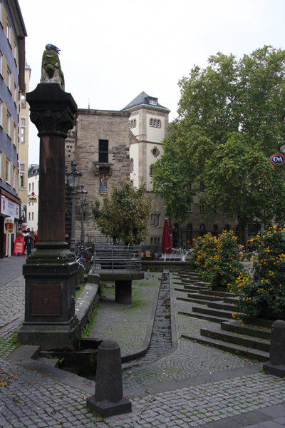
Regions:
M 201 278 L 197 274 L 193 275 L 192 272 L 177 282 L 180 286 L 183 285 L 183 288 L 175 287 L 175 290 L 187 292 L 187 297 L 177 297 L 177 300 L 197 302 L 197 305 L 192 306 L 192 312 L 178 313 L 211 321 L 216 325 L 202 328 L 199 334 L 185 334 L 182 337 L 253 360 L 268 361 L 271 324 L 274 320 L 254 318 L 242 321 L 240 320 L 242 314 L 239 314 L 239 320 L 233 319 L 233 313 L 238 312 L 238 297 L 233 297 L 222 287 L 215 287 L 211 290 L 201 282 Z M 176 282 L 174 283 L 176 284 Z

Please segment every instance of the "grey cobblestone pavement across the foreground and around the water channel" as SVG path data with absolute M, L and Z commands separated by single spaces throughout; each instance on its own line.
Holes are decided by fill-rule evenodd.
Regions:
M 142 286 L 138 285 L 138 287 L 142 290 Z M 150 282 L 148 287 L 153 301 L 157 282 L 153 280 L 153 284 Z M 138 293 L 138 300 L 140 298 L 140 293 Z M 145 296 L 145 299 L 148 298 L 150 297 Z M 146 384 L 145 393 L 131 399 L 131 413 L 109 417 L 101 421 L 86 409 L 86 393 L 83 390 L 6 361 L 6 356 L 16 347 L 15 332 L 21 325 L 24 310 L 23 299 L 23 277 L 1 287 L 0 316 L 1 322 L 4 321 L 0 328 L 0 427 L 285 427 L 285 382 L 283 379 L 264 374 L 264 372 L 230 377 L 230 368 L 242 367 L 245 363 L 244 359 L 180 339 L 177 340 L 177 348 L 170 355 L 147 363 L 145 365 L 147 368 L 133 367 L 132 373 L 125 372 L 125 385 L 141 385 L 142 381 L 150 381 L 157 382 L 157 387 L 159 387 L 158 382 L 161 380 L 178 379 L 178 377 L 181 379 L 190 375 L 199 379 L 200 374 L 205 374 L 209 370 L 213 372 L 228 370 L 229 378 L 216 382 L 200 384 L 198 382 L 195 386 L 186 385 L 155 394 L 148 392 L 151 385 Z M 142 302 L 142 300 L 140 301 Z M 174 300 L 174 303 L 177 313 L 177 310 L 182 308 L 183 302 Z M 187 305 L 187 307 L 189 306 Z M 138 306 L 129 312 L 126 309 L 118 310 L 117 308 L 116 310 L 118 310 L 118 317 L 125 314 L 123 320 L 128 319 L 129 322 L 132 322 L 133 319 L 127 318 L 126 315 L 133 313 L 137 317 L 135 310 L 138 308 L 140 310 L 140 306 Z M 100 317 L 100 325 L 103 322 L 106 323 L 105 327 L 108 329 L 104 331 L 108 330 L 108 335 L 111 335 L 110 317 L 113 314 L 109 312 L 110 317 L 108 318 L 108 314 L 104 311 L 100 307 L 98 320 Z M 144 311 L 145 317 L 149 316 L 150 310 L 145 309 Z M 176 323 L 178 335 L 182 330 L 196 332 L 200 327 L 207 325 L 207 321 L 181 315 L 176 315 Z M 142 329 L 146 328 L 147 320 L 143 320 L 143 317 L 138 318 L 134 324 L 134 331 L 137 333 L 140 325 Z M 123 327 L 125 327 L 124 324 Z M 131 329 L 125 329 L 125 340 L 123 332 L 118 331 L 120 345 L 125 350 L 130 349 L 129 330 Z M 135 342 L 135 346 L 140 345 L 142 341 L 141 332 L 140 340 Z M 150 374 L 146 373 L 147 370 Z M 139 372 L 142 374 L 140 375 Z

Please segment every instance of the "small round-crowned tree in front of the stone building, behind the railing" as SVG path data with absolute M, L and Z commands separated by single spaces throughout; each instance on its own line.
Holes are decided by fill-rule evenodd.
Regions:
M 123 240 L 125 245 L 138 245 L 147 236 L 147 221 L 152 211 L 152 196 L 146 193 L 146 184 L 135 188 L 122 180 L 113 186 L 110 199 L 103 199 L 103 207 L 95 200 L 92 212 L 95 223 L 103 235 Z

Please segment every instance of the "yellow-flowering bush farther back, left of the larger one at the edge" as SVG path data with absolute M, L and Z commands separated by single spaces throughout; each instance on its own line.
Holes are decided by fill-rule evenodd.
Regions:
M 207 233 L 195 240 L 192 263 L 209 287 L 227 287 L 235 282 L 243 266 L 234 233 L 224 231 L 218 238 Z

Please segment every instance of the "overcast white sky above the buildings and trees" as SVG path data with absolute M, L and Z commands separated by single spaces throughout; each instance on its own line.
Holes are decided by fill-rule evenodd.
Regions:
M 30 91 L 46 44 L 61 49 L 66 92 L 78 108 L 120 110 L 142 91 L 177 116 L 177 82 L 221 51 L 240 58 L 285 49 L 284 0 L 19 0 L 28 37 Z M 285 108 L 285 106 L 284 106 Z M 30 123 L 29 164 L 38 163 Z

